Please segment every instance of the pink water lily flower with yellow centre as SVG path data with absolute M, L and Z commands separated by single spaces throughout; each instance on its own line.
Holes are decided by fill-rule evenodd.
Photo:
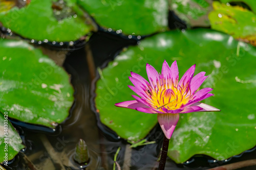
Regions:
M 208 93 L 212 88 L 198 88 L 207 78 L 205 72 L 199 72 L 195 77 L 196 64 L 191 66 L 179 81 L 177 62 L 169 67 L 163 62 L 161 74 L 150 64 L 146 64 L 148 81 L 131 72 L 129 79 L 134 86 L 129 86 L 137 95 L 132 95 L 135 100 L 116 103 L 115 106 L 135 109 L 144 113 L 156 113 L 167 139 L 179 120 L 179 113 L 220 111 L 219 109 L 200 103 L 200 101 L 214 95 Z

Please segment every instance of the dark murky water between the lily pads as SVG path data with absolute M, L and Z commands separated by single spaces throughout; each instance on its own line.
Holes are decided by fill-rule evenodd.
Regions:
M 129 150 L 126 150 L 128 143 L 102 125 L 99 122 L 99 115 L 94 111 L 93 89 L 94 81 L 97 79 L 95 68 L 106 66 L 107 61 L 113 60 L 123 47 L 136 45 L 137 41 L 135 38 L 129 39 L 100 31 L 94 33 L 86 45 L 83 42 L 77 42 L 75 48 L 70 48 L 63 63 L 63 67 L 71 75 L 71 83 L 75 89 L 75 102 L 69 118 L 55 130 L 12 120 L 27 147 L 6 168 L 29 169 L 28 167 L 31 166 L 29 164 L 33 163 L 38 170 L 79 169 L 72 160 L 72 155 L 80 138 L 86 141 L 91 155 L 91 161 L 86 169 L 113 169 L 113 158 L 118 147 L 121 147 L 121 150 L 117 161 L 121 167 L 127 155 L 131 158 L 130 169 L 157 167 L 156 161 L 163 138 L 159 126 L 156 126 L 147 136 L 148 140 L 155 140 L 156 143 L 132 149 L 130 151 L 132 156 L 129 156 Z M 92 56 L 94 62 L 88 60 Z M 24 155 L 32 163 L 26 162 Z M 226 162 L 215 162 L 202 155 L 194 156 L 183 164 L 176 164 L 168 159 L 165 169 L 208 169 L 249 159 L 256 159 L 255 149 L 234 156 Z M 242 169 L 256 169 L 256 166 Z

